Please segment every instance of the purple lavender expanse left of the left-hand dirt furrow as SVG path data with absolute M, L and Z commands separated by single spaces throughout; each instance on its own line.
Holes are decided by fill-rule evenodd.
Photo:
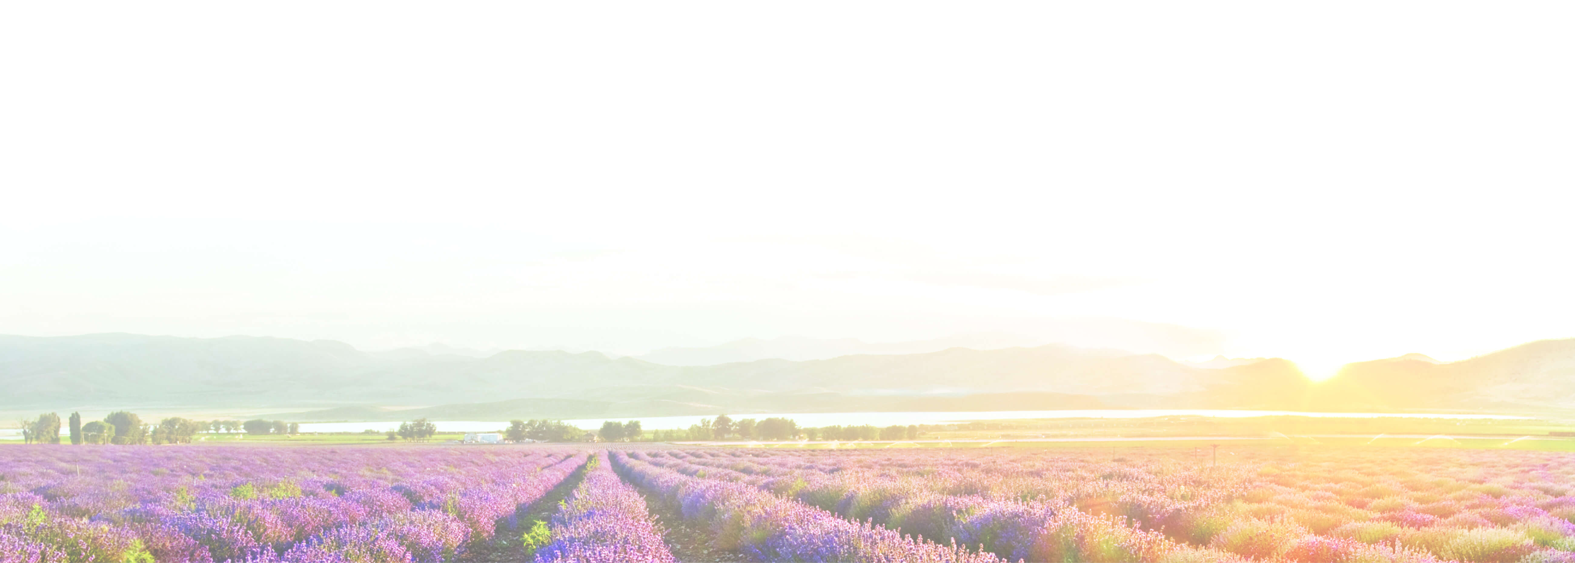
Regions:
M 457 448 L 0 450 L 0 561 L 454 560 L 584 456 Z

